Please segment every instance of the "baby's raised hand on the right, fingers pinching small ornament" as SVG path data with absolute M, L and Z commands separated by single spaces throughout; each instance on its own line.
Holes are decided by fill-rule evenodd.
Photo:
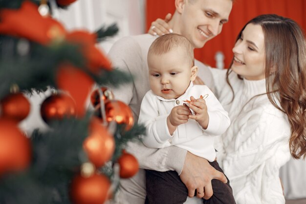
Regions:
M 200 126 L 206 129 L 209 122 L 209 115 L 207 113 L 207 106 L 204 98 L 200 97 L 195 99 L 195 97 L 191 96 L 190 101 L 189 108 L 195 112 L 195 115 L 189 115 L 189 118 L 195 119 Z

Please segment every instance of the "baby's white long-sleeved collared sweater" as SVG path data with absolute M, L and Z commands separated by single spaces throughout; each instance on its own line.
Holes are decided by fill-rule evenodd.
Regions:
M 184 100 L 189 100 L 191 96 L 199 98 L 205 94 L 208 94 L 205 99 L 209 115 L 207 128 L 203 129 L 196 120 L 189 119 L 187 123 L 177 126 L 170 135 L 167 117 L 172 109 L 183 105 Z M 212 162 L 216 159 L 214 138 L 225 132 L 230 120 L 228 113 L 207 86 L 193 85 L 191 82 L 185 93 L 177 99 L 165 99 L 155 95 L 152 90 L 148 91 L 141 103 L 138 123 L 147 128 L 147 136 L 142 140 L 147 147 L 165 148 L 175 145 Z

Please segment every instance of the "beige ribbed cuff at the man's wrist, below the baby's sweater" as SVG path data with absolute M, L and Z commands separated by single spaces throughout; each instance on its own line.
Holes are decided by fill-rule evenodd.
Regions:
M 167 169 L 175 170 L 178 175 L 182 173 L 187 150 L 171 146 L 165 163 Z

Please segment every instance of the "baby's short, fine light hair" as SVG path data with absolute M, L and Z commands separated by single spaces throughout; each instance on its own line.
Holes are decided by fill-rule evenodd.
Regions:
M 181 47 L 186 53 L 186 60 L 190 61 L 190 65 L 195 65 L 194 47 L 191 42 L 182 35 L 170 33 L 162 35 L 152 43 L 149 48 L 150 54 L 160 55 L 171 51 L 173 48 Z

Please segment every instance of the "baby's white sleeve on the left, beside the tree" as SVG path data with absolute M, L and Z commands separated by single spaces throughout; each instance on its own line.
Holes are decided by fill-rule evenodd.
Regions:
M 152 91 L 148 91 L 141 102 L 140 114 L 138 123 L 144 124 L 147 128 L 146 136 L 142 142 L 150 148 L 164 148 L 171 144 L 170 135 L 167 126 L 168 114 L 160 115 L 158 111 L 158 99 Z

